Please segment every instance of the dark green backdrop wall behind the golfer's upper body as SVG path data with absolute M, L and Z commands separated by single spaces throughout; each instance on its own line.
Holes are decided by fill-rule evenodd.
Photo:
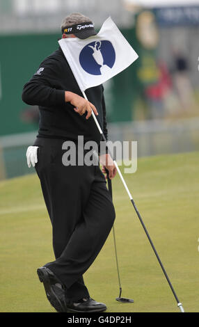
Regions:
M 125 30 L 122 33 L 137 50 L 134 31 Z M 0 136 L 37 129 L 37 125 L 22 119 L 22 112 L 29 109 L 22 102 L 22 88 L 41 61 L 58 47 L 58 38 L 59 34 L 0 35 Z M 111 97 L 106 103 L 108 120 L 111 122 L 132 120 L 137 62 L 111 81 Z

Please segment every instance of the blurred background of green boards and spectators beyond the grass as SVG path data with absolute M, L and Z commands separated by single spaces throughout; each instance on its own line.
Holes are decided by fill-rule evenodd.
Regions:
M 139 56 L 104 83 L 109 139 L 138 141 L 138 157 L 199 150 L 199 0 L 0 0 L 0 180 L 34 171 L 38 108 L 22 88 L 72 12 L 97 31 L 111 16 Z

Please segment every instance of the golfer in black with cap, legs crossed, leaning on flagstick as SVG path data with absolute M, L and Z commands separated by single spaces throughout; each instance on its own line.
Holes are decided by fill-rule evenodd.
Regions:
M 79 13 L 67 16 L 61 31 L 62 38 L 85 39 L 97 34 L 93 22 Z M 103 173 L 106 167 L 112 179 L 116 167 L 107 153 L 101 154 L 102 170 L 99 164 L 65 166 L 62 161 L 65 141 L 77 144 L 78 136 L 83 136 L 84 142 L 100 145 L 92 110 L 107 138 L 103 86 L 89 88 L 86 96 L 88 100 L 82 97 L 61 47 L 42 61 L 22 93 L 23 101 L 38 105 L 40 112 L 38 136 L 26 155 L 40 178 L 53 233 L 55 260 L 38 268 L 38 277 L 58 312 L 106 310 L 104 303 L 90 298 L 83 273 L 113 226 L 115 210 Z

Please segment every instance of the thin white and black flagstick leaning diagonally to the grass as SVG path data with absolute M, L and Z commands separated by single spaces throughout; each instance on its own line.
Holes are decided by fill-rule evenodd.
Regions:
M 83 93 L 83 97 L 84 97 L 86 100 L 88 100 L 88 98 L 86 97 L 85 92 L 84 92 L 84 91 L 81 91 L 81 92 Z M 101 136 L 102 136 L 104 142 L 106 143 L 106 138 L 105 138 L 104 133 L 103 133 L 101 127 L 100 127 L 99 122 L 97 121 L 97 118 L 95 117 L 95 113 L 93 112 L 93 110 L 92 110 L 92 115 L 93 115 L 93 119 L 95 120 L 95 124 L 97 125 L 97 128 L 98 128 L 98 130 L 100 131 L 100 134 L 101 134 Z M 106 145 L 106 146 L 107 146 L 107 145 Z M 112 158 L 112 159 L 113 159 L 113 158 Z M 154 244 L 152 243 L 152 239 L 150 238 L 150 235 L 148 234 L 148 230 L 145 228 L 145 224 L 143 223 L 143 220 L 142 220 L 142 218 L 141 218 L 141 214 L 138 212 L 138 209 L 137 209 L 137 207 L 136 207 L 136 205 L 135 205 L 135 202 L 134 202 L 134 200 L 133 200 L 133 198 L 132 198 L 132 194 L 130 193 L 130 191 L 129 191 L 128 187 L 127 187 L 127 184 L 126 184 L 124 178 L 122 177 L 122 173 L 120 172 L 120 168 L 118 167 L 118 164 L 116 163 L 116 160 L 113 159 L 113 163 L 114 163 L 114 166 L 116 167 L 116 169 L 117 169 L 117 171 L 118 171 L 118 174 L 120 175 L 120 179 L 122 180 L 123 185 L 125 186 L 125 189 L 126 189 L 126 191 L 127 191 L 127 193 L 128 193 L 128 196 L 129 196 L 129 198 L 130 198 L 130 200 L 131 200 L 131 202 L 132 202 L 132 205 L 134 206 L 134 209 L 135 209 L 135 211 L 136 211 L 136 214 L 137 214 L 137 216 L 138 216 L 138 218 L 139 218 L 139 220 L 140 220 L 140 222 L 141 222 L 141 225 L 143 226 L 143 229 L 144 229 L 144 231 L 145 231 L 145 234 L 147 235 L 148 240 L 150 241 L 150 245 L 152 246 L 152 249 L 154 250 L 154 254 L 156 255 L 157 260 L 158 260 L 158 262 L 159 262 L 159 264 L 160 264 L 160 266 L 161 266 L 161 269 L 162 269 L 162 271 L 163 271 L 163 273 L 164 273 L 164 276 L 166 277 L 166 280 L 168 281 L 168 285 L 170 286 L 170 289 L 171 289 L 171 291 L 173 292 L 173 295 L 175 296 L 175 300 L 177 301 L 177 306 L 180 308 L 180 311 L 181 311 L 181 312 L 184 312 L 184 308 L 182 307 L 182 303 L 180 303 L 180 301 L 179 301 L 178 298 L 177 298 L 177 295 L 176 295 L 176 293 L 175 293 L 175 290 L 173 289 L 173 286 L 172 286 L 172 284 L 171 284 L 171 282 L 170 282 L 170 280 L 169 280 L 169 278 L 168 278 L 168 275 L 167 275 L 167 273 L 166 273 L 166 270 L 164 269 L 164 266 L 163 266 L 163 264 L 161 263 L 161 260 L 160 260 L 160 258 L 159 258 L 159 255 L 158 255 L 158 253 L 157 253 L 157 250 L 155 249 Z

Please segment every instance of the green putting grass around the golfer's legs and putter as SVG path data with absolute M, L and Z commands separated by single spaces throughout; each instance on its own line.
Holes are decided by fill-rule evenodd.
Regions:
M 199 153 L 138 160 L 124 175 L 175 292 L 186 312 L 198 312 Z M 116 243 L 122 296 L 118 303 L 113 232 L 84 275 L 90 296 L 107 312 L 179 312 L 127 193 L 113 180 Z M 51 224 L 37 175 L 0 183 L 1 312 L 54 312 L 35 273 L 54 260 Z

